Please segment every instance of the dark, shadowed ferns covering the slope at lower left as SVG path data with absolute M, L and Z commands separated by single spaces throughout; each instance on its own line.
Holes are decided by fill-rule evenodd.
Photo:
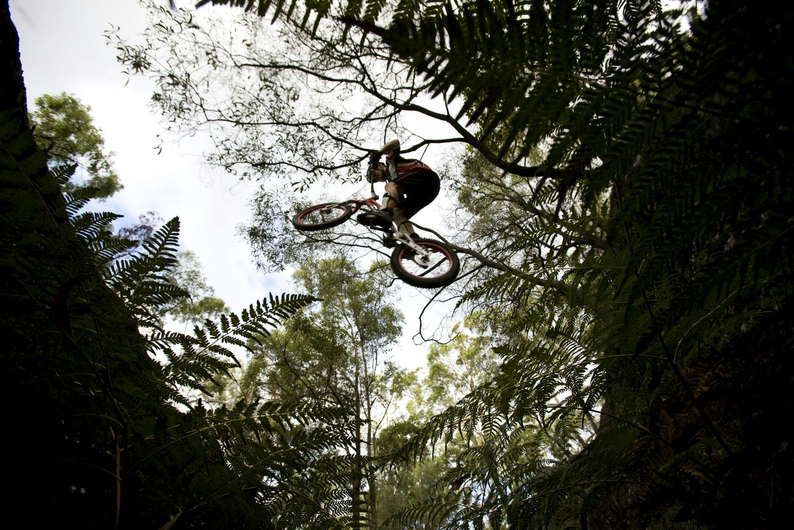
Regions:
M 0 325 L 20 446 L 10 480 L 38 491 L 48 508 L 40 523 L 56 524 L 52 513 L 90 528 L 159 528 L 175 517 L 186 528 L 295 528 L 287 513 L 310 513 L 301 521 L 341 528 L 348 482 L 329 451 L 349 433 L 322 426 L 348 411 L 244 402 L 210 409 L 189 394 L 237 365 L 231 346 L 313 299 L 269 296 L 195 335 L 141 335 L 153 306 L 183 294 L 164 278 L 178 221 L 141 253 L 109 262 L 128 246 L 106 230 L 114 215 L 81 214 L 87 192 L 59 191 L 71 169 L 53 175 L 18 112 L 0 117 Z

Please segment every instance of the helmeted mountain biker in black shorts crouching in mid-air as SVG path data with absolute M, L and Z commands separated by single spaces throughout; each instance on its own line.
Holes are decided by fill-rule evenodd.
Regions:
M 399 151 L 399 140 L 387 142 L 376 153 L 373 160 L 386 155 L 386 164 L 377 162 L 367 174 L 370 182 L 386 182 L 384 191 L 384 208 L 372 212 L 375 216 L 371 222 L 381 226 L 391 226 L 392 220 L 401 234 L 416 239 L 414 226 L 408 221 L 411 217 L 438 196 L 441 183 L 437 174 L 427 164 L 415 158 L 403 158 Z

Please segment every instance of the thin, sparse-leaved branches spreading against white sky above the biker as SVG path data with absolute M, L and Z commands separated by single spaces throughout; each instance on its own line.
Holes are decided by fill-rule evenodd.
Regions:
M 352 235 L 345 226 L 296 237 L 287 219 L 310 188 L 362 181 L 363 162 L 384 140 L 400 137 L 403 153 L 417 155 L 428 145 L 480 145 L 457 100 L 430 99 L 428 83 L 380 37 L 327 20 L 311 31 L 300 6 L 274 24 L 240 11 L 147 6 L 143 44 L 110 36 L 119 60 L 156 82 L 152 106 L 164 126 L 209 130 L 208 160 L 260 185 L 244 232 L 264 269 L 300 263 L 329 242 L 382 252 L 380 238 L 355 226 Z M 458 250 L 495 265 L 480 249 Z

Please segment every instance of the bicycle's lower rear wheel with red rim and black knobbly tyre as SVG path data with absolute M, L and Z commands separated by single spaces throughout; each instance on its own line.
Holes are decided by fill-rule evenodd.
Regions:
M 435 239 L 417 239 L 415 243 L 428 253 L 424 257 L 410 246 L 400 245 L 391 253 L 391 270 L 400 280 L 420 288 L 451 284 L 461 270 L 457 253 Z

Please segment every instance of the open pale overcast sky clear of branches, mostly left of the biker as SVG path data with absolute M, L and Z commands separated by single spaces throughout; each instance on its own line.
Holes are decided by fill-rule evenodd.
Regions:
M 248 244 L 237 235 L 237 226 L 250 219 L 255 183 L 202 164 L 202 153 L 210 150 L 206 137 L 178 143 L 169 138 L 157 154 L 163 128 L 147 106 L 153 84 L 123 75 L 104 35 L 118 26 L 122 37 L 135 41 L 145 29 L 136 0 L 10 0 L 10 9 L 20 37 L 29 108 L 42 94 L 76 95 L 91 106 L 107 149 L 116 153 L 114 166 L 124 189 L 102 203 L 102 210 L 125 215 L 122 222 L 129 224 L 148 211 L 165 220 L 179 216 L 181 248 L 198 255 L 210 285 L 233 311 L 268 292 L 295 291 L 288 274 L 258 271 Z M 395 357 L 406 366 L 423 365 L 426 346 L 413 346 L 410 337 L 418 331 L 418 311 L 432 292 L 395 288 L 402 288 L 400 307 L 407 317 L 406 336 Z M 433 335 L 435 324 L 430 326 Z

